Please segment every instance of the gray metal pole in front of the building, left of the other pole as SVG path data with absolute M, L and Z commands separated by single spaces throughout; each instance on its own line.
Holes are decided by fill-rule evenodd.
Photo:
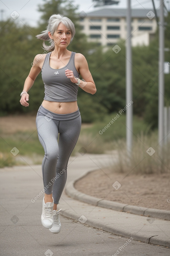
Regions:
M 126 40 L 126 104 L 132 100 L 132 52 L 131 52 L 131 0 L 127 0 L 127 40 Z M 126 142 L 129 156 L 132 151 L 133 104 L 126 110 Z

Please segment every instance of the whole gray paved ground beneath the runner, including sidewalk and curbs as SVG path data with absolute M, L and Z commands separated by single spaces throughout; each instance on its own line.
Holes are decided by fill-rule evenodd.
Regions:
M 70 158 L 58 205 L 62 208 L 59 234 L 41 225 L 41 166 L 0 169 L 0 255 L 169 255 L 169 211 L 135 209 L 75 190 L 76 180 L 113 162 L 109 155 L 83 152 Z

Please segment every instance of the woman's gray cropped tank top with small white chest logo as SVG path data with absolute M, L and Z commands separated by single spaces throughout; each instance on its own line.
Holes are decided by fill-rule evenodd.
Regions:
M 71 53 L 67 65 L 60 69 L 50 67 L 50 54 L 51 52 L 47 53 L 41 70 L 45 88 L 44 100 L 58 102 L 76 101 L 79 86 L 72 83 L 70 78 L 67 78 L 65 75 L 65 70 L 70 69 L 73 71 L 74 76 L 79 77 L 74 64 L 75 52 Z

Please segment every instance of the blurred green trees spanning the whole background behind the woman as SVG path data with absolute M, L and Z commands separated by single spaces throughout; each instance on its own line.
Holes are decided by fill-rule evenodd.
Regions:
M 0 22 L 0 114 L 37 112 L 43 98 L 44 85 L 41 74 L 37 77 L 30 94 L 30 106 L 19 103 L 24 81 L 29 74 L 36 54 L 43 53 L 42 41 L 35 35 L 45 30 L 49 17 L 60 13 L 75 24 L 76 34 L 68 50 L 82 53 L 89 64 L 97 87 L 97 93 L 90 95 L 81 88 L 78 91 L 78 105 L 83 122 L 101 120 L 108 113 L 119 112 L 126 106 L 126 54 L 122 41 L 117 44 L 121 51 L 116 54 L 112 47 L 107 50 L 94 43 L 88 43 L 79 26 L 76 7 L 66 0 L 44 0 L 39 6 L 42 13 L 38 28 L 19 25 L 16 21 Z M 165 48 L 170 41 L 170 15 L 165 18 Z M 158 112 L 158 31 L 149 46 L 132 49 L 133 61 L 133 113 L 144 118 L 152 127 L 157 127 Z M 165 61 L 170 62 L 170 51 Z M 170 105 L 170 76 L 165 74 L 165 105 Z

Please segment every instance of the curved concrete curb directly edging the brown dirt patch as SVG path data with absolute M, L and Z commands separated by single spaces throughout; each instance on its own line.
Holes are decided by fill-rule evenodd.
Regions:
M 82 175 L 79 179 L 83 178 L 90 172 L 87 172 L 86 174 Z M 94 196 L 89 196 L 84 193 L 81 193 L 80 191 L 76 190 L 74 187 L 75 182 L 78 181 L 79 179 L 68 183 L 65 187 L 66 194 L 72 197 L 73 199 L 76 199 L 84 203 L 92 204 L 95 206 L 112 209 L 115 211 L 124 211 L 124 212 L 130 212 L 137 215 L 143 215 L 146 217 L 170 220 L 170 211 L 167 211 L 167 210 L 159 210 L 159 209 L 145 208 L 145 207 L 140 207 L 135 205 L 122 204 L 114 201 L 103 200 L 102 198 L 97 198 Z

